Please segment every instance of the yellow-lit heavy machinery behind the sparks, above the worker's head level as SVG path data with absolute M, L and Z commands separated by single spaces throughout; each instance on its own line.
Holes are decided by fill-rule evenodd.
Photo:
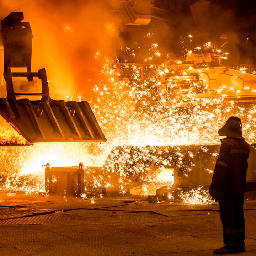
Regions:
M 207 65 L 207 66 L 206 66 Z M 256 75 L 220 64 L 219 53 L 188 54 L 187 60 L 159 68 L 158 101 L 160 103 L 256 102 Z

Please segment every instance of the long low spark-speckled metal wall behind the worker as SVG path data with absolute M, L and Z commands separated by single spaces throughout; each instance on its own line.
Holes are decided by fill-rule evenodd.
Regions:
M 192 187 L 209 187 L 220 144 L 177 146 L 117 146 L 102 167 L 84 167 L 87 173 L 101 174 L 108 183 L 105 193 L 142 193 L 142 187 L 153 184 L 159 197 L 168 192 Z M 246 190 L 255 190 L 256 144 L 250 145 Z M 161 175 L 162 174 L 162 175 Z M 164 176 L 164 181 L 161 180 Z M 90 186 L 89 184 L 86 186 Z M 99 188 L 102 191 L 102 188 Z

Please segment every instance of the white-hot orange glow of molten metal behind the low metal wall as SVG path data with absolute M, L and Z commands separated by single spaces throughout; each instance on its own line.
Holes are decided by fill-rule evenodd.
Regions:
M 243 125 L 243 134 L 249 143 L 256 138 L 256 106 L 245 110 L 235 105 L 234 102 L 223 105 L 222 98 L 218 98 L 219 104 L 208 105 L 195 104 L 189 106 L 187 111 L 180 112 L 180 105 L 154 107 L 144 97 L 149 93 L 146 81 L 140 80 L 139 66 L 133 66 L 134 81 L 129 84 L 114 71 L 110 62 L 106 62 L 102 69 L 105 79 L 94 86 L 94 97 L 91 103 L 93 112 L 100 127 L 107 138 L 105 143 L 35 143 L 26 148 L 1 148 L 1 163 L 9 163 L 1 170 L 14 175 L 6 180 L 2 190 L 23 190 L 27 193 L 35 193 L 44 188 L 44 167 L 49 162 L 50 166 L 78 166 L 83 162 L 85 166 L 102 166 L 108 154 L 117 145 L 182 145 L 218 143 L 218 129 L 223 124 L 223 117 L 230 113 L 240 116 L 247 122 Z M 157 84 L 158 81 L 155 80 Z M 66 100 L 81 100 L 79 94 L 66 95 Z M 225 106 L 225 107 L 224 107 Z M 182 113 L 182 114 L 181 114 Z M 243 118 L 244 117 L 244 118 Z M 8 126 L 8 125 L 7 125 Z M 17 136 L 19 137 L 19 136 Z M 17 139 L 17 138 L 16 138 Z M 21 139 L 22 141 L 22 139 Z M 9 162 L 8 162 L 9 161 Z M 17 164 L 18 163 L 18 164 Z M 114 162 L 112 163 L 114 170 Z M 144 171 L 144 170 L 141 170 Z M 211 170 L 209 170 L 211 171 Z M 157 188 L 171 185 L 173 181 L 166 179 L 168 174 L 159 173 L 153 180 L 145 178 L 142 187 L 133 190 L 135 194 L 154 194 Z M 89 172 L 94 189 L 112 186 L 100 174 Z M 10 176 L 10 175 L 9 175 Z M 37 180 L 37 186 L 29 184 L 32 177 Z M 24 181 L 24 183 L 21 182 Z M 120 190 L 126 193 L 127 179 L 121 176 Z M 20 185 L 19 185 L 20 184 Z M 24 185 L 23 185 L 24 184 Z M 195 195 L 195 197 L 193 196 Z M 172 198 L 172 195 L 169 195 Z M 198 190 L 195 193 L 183 195 L 183 201 L 188 203 L 208 203 L 207 193 Z M 92 199 L 92 203 L 93 203 Z

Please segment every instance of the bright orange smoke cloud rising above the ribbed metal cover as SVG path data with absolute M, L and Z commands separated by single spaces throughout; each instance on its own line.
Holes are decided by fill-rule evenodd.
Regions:
M 107 1 L 1 1 L 0 7 L 1 20 L 22 11 L 22 22 L 30 23 L 31 70 L 46 68 L 51 97 L 62 99 L 75 89 L 86 100 L 119 34 Z

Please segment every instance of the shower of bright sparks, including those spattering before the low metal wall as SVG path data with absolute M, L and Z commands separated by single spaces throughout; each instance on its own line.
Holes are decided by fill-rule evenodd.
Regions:
M 148 37 L 150 36 L 151 32 L 148 34 Z M 191 35 L 187 38 L 192 40 Z M 208 47 L 209 42 L 206 45 Z M 124 51 L 129 55 L 136 55 L 135 51 L 128 47 Z M 192 53 L 192 50 L 187 52 Z M 144 61 L 147 63 L 160 55 L 158 44 L 153 43 Z M 98 53 L 95 56 L 97 57 Z M 181 60 L 174 62 L 182 63 Z M 186 71 L 193 69 L 189 66 Z M 245 120 L 243 134 L 248 143 L 255 143 L 256 106 L 251 105 L 245 109 L 234 101 L 224 103 L 224 94 L 211 101 L 197 98 L 195 89 L 203 89 L 190 81 L 187 72 L 181 74 L 185 78 L 187 76 L 188 88 L 184 92 L 193 102 L 184 105 L 179 95 L 170 93 L 164 98 L 164 94 L 159 90 L 159 75 L 174 74 L 174 69 L 168 69 L 164 65 L 156 67 L 151 64 L 118 64 L 106 60 L 102 69 L 105 79 L 98 81 L 94 86 L 90 106 L 108 141 L 101 144 L 61 142 L 35 143 L 26 148 L 2 147 L 1 190 L 21 190 L 27 193 L 44 191 L 43 165 L 49 163 L 51 167 L 78 166 L 79 162 L 83 162 L 84 167 L 104 166 L 100 171 L 85 168 L 85 193 L 82 193 L 81 197 L 90 198 L 92 203 L 95 203 L 95 195 L 90 196 L 90 191 L 98 191 L 101 197 L 102 188 L 118 186 L 120 193 L 127 193 L 131 183 L 135 183 L 134 190 L 137 190 L 137 194 L 155 194 L 157 188 L 172 186 L 174 158 L 176 165 L 181 166 L 183 153 L 179 147 L 173 154 L 168 155 L 168 150 L 159 152 L 157 148 L 152 150 L 147 146 L 217 144 L 218 129 L 230 115 Z M 200 73 L 200 70 L 197 72 Z M 172 78 L 168 82 L 170 88 L 175 89 L 176 84 Z M 207 90 L 207 86 L 204 90 Z M 226 86 L 223 85 L 217 92 L 222 93 Z M 229 90 L 232 91 L 232 88 Z M 74 91 L 74 94 L 67 95 L 65 100 L 81 101 L 82 98 Z M 11 138 L 5 136 L 6 141 L 20 140 L 20 144 L 25 144 L 20 135 L 10 136 Z M 118 146 L 121 147 L 122 154 Z M 131 146 L 137 147 L 134 154 L 130 154 Z M 111 157 L 108 158 L 111 150 Z M 218 152 L 212 154 L 216 157 Z M 194 157 L 192 154 L 189 156 Z M 155 162 L 160 169 L 154 169 L 154 172 L 150 173 L 153 170 L 150 169 L 151 162 Z M 161 174 L 161 170 L 165 172 Z M 187 168 L 188 172 L 190 170 Z M 208 169 L 207 172 L 212 173 L 213 170 Z M 168 198 L 172 199 L 173 195 L 169 193 Z M 181 198 L 190 204 L 212 202 L 208 192 L 202 188 L 181 192 Z

